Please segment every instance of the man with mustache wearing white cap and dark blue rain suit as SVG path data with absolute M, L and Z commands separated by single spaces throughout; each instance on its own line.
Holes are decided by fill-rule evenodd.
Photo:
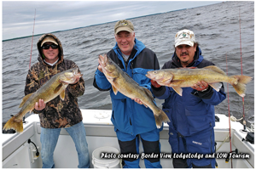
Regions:
M 175 36 L 175 52 L 172 60 L 163 65 L 162 69 L 175 69 L 185 67 L 203 68 L 214 65 L 203 59 L 201 48 L 195 42 L 193 31 L 178 31 Z M 197 82 L 193 87 L 183 87 L 182 96 L 178 95 L 172 87 L 162 87 L 151 81 L 154 96 L 165 99 L 163 110 L 168 115 L 169 143 L 172 153 L 176 154 L 213 154 L 215 153 L 214 105 L 220 104 L 225 98 L 224 86 L 215 91 L 207 82 Z M 177 159 L 173 158 L 174 167 L 215 167 L 215 159 Z

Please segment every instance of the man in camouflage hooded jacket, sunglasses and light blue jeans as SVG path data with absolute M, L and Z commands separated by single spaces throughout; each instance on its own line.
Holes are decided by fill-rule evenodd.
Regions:
M 53 34 L 44 34 L 38 40 L 37 46 L 38 63 L 28 70 L 25 95 L 36 92 L 55 74 L 78 67 L 72 60 L 63 58 L 61 42 Z M 83 94 L 84 79 L 80 77 L 67 86 L 63 101 L 58 96 L 47 104 L 42 99 L 35 104 L 33 112 L 40 117 L 43 167 L 55 166 L 53 152 L 61 128 L 65 128 L 73 138 L 79 155 L 79 167 L 90 166 L 83 117 L 78 104 L 78 97 Z

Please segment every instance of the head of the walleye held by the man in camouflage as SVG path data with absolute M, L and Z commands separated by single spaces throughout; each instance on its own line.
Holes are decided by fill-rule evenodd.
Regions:
M 71 70 L 65 71 L 60 76 L 60 81 L 67 82 L 67 83 L 73 83 L 76 81 L 77 77 L 80 78 L 81 76 L 83 76 L 83 75 L 79 73 L 79 68 L 73 68 Z

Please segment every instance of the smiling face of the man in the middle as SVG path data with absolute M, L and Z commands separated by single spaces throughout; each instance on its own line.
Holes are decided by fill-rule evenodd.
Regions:
M 135 33 L 129 31 L 119 31 L 115 36 L 115 40 L 121 52 L 125 55 L 130 55 L 132 48 L 134 47 Z

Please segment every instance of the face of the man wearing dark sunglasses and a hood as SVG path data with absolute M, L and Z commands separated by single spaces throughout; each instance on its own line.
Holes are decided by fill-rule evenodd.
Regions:
M 45 42 L 43 47 L 47 45 L 55 45 L 55 44 L 53 42 Z M 53 49 L 49 46 L 49 49 L 43 48 L 43 54 L 45 56 L 45 61 L 50 64 L 53 64 L 58 59 L 59 49 L 58 48 Z

